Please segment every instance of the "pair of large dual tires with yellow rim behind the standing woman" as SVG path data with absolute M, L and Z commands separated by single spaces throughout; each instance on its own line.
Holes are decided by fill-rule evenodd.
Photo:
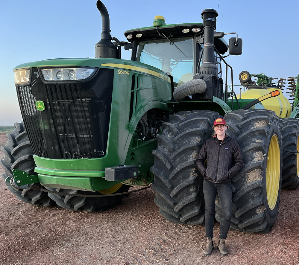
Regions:
M 195 160 L 218 117 L 212 111 L 179 112 L 170 116 L 157 137 L 152 187 L 160 214 L 169 221 L 204 223 L 203 178 L 197 175 Z M 251 109 L 230 112 L 224 119 L 227 134 L 239 142 L 244 159 L 242 170 L 232 179 L 231 229 L 267 233 L 277 218 L 282 181 L 278 117 L 272 111 Z M 220 221 L 218 199 L 215 211 Z

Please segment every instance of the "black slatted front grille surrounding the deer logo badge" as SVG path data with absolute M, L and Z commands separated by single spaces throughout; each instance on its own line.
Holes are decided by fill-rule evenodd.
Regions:
M 32 69 L 31 86 L 17 86 L 34 154 L 51 159 L 98 158 L 106 153 L 113 69 L 80 83 L 48 83 Z M 35 103 L 42 100 L 45 110 Z

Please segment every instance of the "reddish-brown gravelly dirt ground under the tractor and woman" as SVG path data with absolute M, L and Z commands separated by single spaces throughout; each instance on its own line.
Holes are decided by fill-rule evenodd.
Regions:
M 0 146 L 7 138 L 0 134 Z M 3 152 L 0 151 L 0 159 Z M 4 170 L 0 167 L 0 174 Z M 299 189 L 282 191 L 268 234 L 230 231 L 228 256 L 202 255 L 203 226 L 166 221 L 149 188 L 105 212 L 82 213 L 19 201 L 0 182 L 0 265 L 290 264 L 299 265 Z M 214 242 L 219 223 L 215 223 Z

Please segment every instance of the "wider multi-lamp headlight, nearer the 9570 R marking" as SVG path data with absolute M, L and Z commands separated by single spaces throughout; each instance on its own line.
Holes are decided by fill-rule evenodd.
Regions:
M 47 68 L 42 69 L 45 81 L 82 80 L 92 76 L 94 68 Z

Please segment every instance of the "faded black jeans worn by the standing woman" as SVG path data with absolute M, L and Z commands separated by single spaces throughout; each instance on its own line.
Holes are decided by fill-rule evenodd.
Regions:
M 213 183 L 205 181 L 203 183 L 204 204 L 206 207 L 206 216 L 204 225 L 206 228 L 206 237 L 213 237 L 214 212 L 216 193 L 221 203 L 223 218 L 220 222 L 220 238 L 226 238 L 230 229 L 230 218 L 232 214 L 232 188 L 228 183 Z

